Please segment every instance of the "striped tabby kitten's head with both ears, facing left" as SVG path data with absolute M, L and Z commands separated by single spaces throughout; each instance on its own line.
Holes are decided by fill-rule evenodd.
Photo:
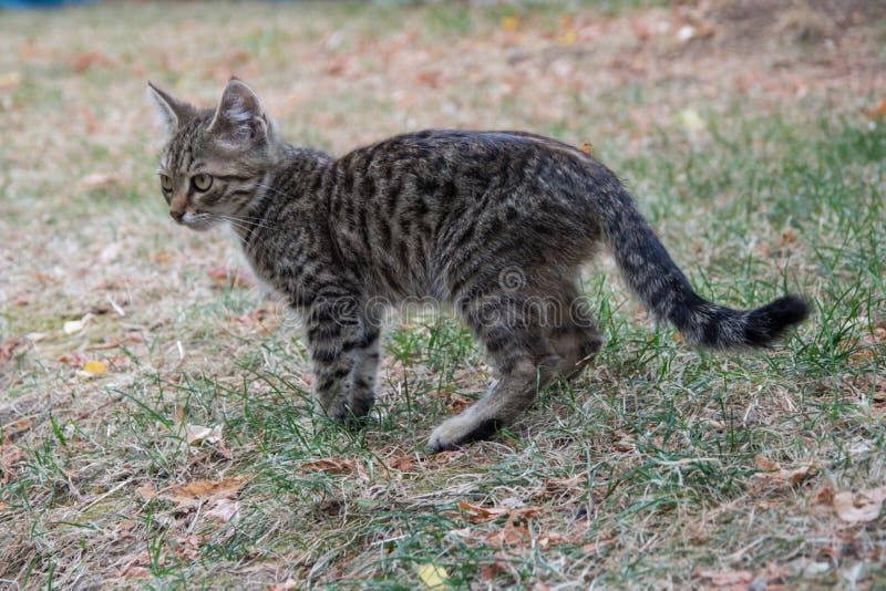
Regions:
M 284 149 L 255 93 L 231 79 L 213 110 L 147 87 L 167 129 L 157 173 L 173 219 L 195 230 L 248 220 Z

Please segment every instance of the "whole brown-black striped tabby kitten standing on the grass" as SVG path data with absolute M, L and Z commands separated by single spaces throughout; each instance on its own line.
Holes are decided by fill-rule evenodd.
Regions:
M 333 158 L 286 143 L 239 80 L 214 110 L 148 86 L 169 132 L 159 167 L 169 214 L 195 230 L 229 225 L 255 273 L 303 312 L 317 402 L 338 419 L 372 407 L 379 303 L 430 297 L 453 305 L 498 375 L 430 447 L 512 423 L 600 349 L 577 287 L 600 242 L 692 345 L 762 348 L 806 318 L 794 296 L 749 311 L 699 297 L 618 178 L 555 139 L 424 131 Z

